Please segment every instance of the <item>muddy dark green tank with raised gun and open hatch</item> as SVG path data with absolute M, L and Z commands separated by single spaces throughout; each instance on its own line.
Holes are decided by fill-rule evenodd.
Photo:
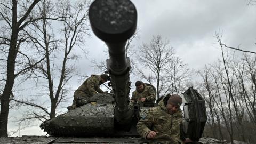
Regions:
M 57 137 L 83 137 L 63 138 L 62 142 L 143 143 L 135 126 L 157 103 L 130 103 L 131 66 L 125 57 L 125 44 L 136 30 L 137 10 L 127 0 L 95 0 L 89 9 L 89 19 L 94 34 L 109 48 L 107 70 L 114 93 L 95 94 L 90 103 L 45 121 L 40 127 Z M 183 100 L 185 132 L 196 141 L 206 122 L 205 103 L 193 87 L 183 93 Z

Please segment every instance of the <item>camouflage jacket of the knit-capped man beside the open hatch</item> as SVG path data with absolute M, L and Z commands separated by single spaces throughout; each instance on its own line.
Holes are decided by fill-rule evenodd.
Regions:
M 142 117 L 137 124 L 137 132 L 146 139 L 149 131 L 157 133 L 150 143 L 172 143 L 180 141 L 180 124 L 182 124 L 182 111 L 179 109 L 173 115 L 167 113 L 163 99 L 158 107 L 150 108 L 146 117 Z

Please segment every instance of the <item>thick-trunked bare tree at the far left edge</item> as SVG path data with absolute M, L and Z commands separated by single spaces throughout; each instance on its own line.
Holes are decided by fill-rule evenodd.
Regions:
M 35 22 L 39 17 L 33 17 L 36 15 L 29 14 L 33 11 L 35 5 L 39 2 L 39 0 L 35 1 L 27 1 L 20 2 L 13 0 L 12 2 L 1 1 L 1 11 L 0 20 L 4 22 L 3 28 L 6 29 L 6 33 L 9 35 L 2 35 L 1 45 L 5 44 L 7 46 L 2 47 L 2 52 L 7 52 L 7 59 L 1 59 L 6 62 L 6 81 L 3 89 L 3 94 L 1 97 L 1 114 L 0 114 L 0 137 L 7 137 L 7 123 L 8 123 L 8 114 L 9 114 L 9 101 L 10 95 L 12 92 L 12 88 L 14 85 L 14 80 L 18 75 L 26 73 L 33 66 L 37 65 L 39 61 L 37 60 L 29 60 L 26 54 L 20 51 L 20 46 L 23 42 L 27 41 L 27 37 L 21 34 L 21 30 L 29 25 L 31 22 Z M 19 14 L 18 14 L 19 13 Z M 29 19 L 28 19 L 29 18 Z M 8 47 L 7 50 L 4 48 Z M 23 55 L 28 62 L 24 63 L 23 68 L 15 69 L 17 67 L 17 55 Z M 41 59 L 42 60 L 42 59 Z

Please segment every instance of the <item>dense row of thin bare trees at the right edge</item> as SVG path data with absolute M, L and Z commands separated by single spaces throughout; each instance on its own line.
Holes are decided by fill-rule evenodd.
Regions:
M 255 143 L 256 138 L 256 55 L 235 57 L 220 44 L 222 59 L 198 72 L 199 88 L 207 106 L 204 135 L 221 140 Z

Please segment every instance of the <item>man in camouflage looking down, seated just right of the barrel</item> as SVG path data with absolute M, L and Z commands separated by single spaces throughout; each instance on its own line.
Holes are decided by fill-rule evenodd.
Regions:
M 156 93 L 153 87 L 144 84 L 141 81 L 135 83 L 136 90 L 132 92 L 131 102 L 155 102 Z

